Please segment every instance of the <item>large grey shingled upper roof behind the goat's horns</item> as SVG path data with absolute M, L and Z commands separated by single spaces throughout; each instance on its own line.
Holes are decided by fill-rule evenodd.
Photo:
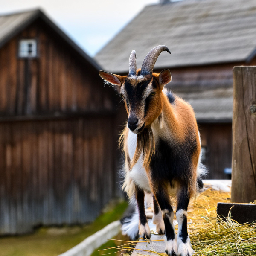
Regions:
M 256 54 L 255 0 L 184 0 L 146 6 L 95 56 L 109 72 L 128 71 L 131 50 L 141 67 L 165 44 L 155 68 L 250 61 Z

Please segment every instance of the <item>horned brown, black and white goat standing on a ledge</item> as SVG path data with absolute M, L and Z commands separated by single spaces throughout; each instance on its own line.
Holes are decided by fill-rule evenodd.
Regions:
M 118 91 L 128 113 L 120 140 L 125 152 L 123 189 L 131 200 L 136 198 L 137 214 L 123 221 L 122 230 L 133 239 L 138 231 L 143 238 L 151 237 L 144 196 L 145 192 L 153 193 L 153 222 L 159 234 L 165 233 L 166 253 L 185 256 L 194 252 L 187 231 L 187 208 L 190 198 L 202 185 L 204 168 L 192 107 L 164 88 L 172 79 L 168 69 L 153 73 L 163 51 L 171 53 L 166 46 L 159 45 L 145 57 L 141 70 L 137 70 L 133 50 L 127 76 L 105 71 L 99 75 Z M 177 236 L 171 194 L 176 195 L 177 201 Z

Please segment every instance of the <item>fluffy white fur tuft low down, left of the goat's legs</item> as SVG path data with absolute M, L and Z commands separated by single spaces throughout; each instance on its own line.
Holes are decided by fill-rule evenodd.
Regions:
M 139 238 L 139 212 L 135 201 L 131 200 L 128 213 L 121 219 L 122 235 L 129 236 L 133 241 Z

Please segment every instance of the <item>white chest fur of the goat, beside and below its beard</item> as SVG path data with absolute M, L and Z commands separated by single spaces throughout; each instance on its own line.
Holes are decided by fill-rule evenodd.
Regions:
M 128 154 L 130 159 L 133 158 L 137 146 L 137 135 L 129 131 L 128 133 Z M 129 176 L 141 189 L 146 192 L 151 192 L 148 177 L 145 169 L 143 168 L 142 155 L 140 156 L 138 162 L 131 169 Z

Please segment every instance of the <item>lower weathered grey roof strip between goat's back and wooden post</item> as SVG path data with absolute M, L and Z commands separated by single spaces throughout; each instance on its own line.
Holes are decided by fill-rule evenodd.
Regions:
M 198 122 L 231 122 L 233 79 L 171 82 L 167 86 L 192 105 Z

